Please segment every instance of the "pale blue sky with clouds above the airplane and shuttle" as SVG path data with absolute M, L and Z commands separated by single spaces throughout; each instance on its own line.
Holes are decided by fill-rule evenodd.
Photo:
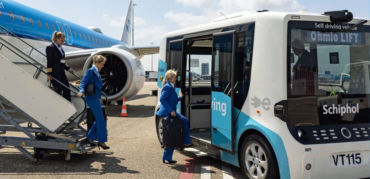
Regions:
M 82 26 L 99 27 L 104 34 L 121 39 L 129 0 L 16 0 Z M 310 13 L 349 10 L 370 19 L 370 0 L 134 0 L 134 45 L 159 45 L 166 32 L 209 23 L 223 14 L 243 10 L 297 11 Z M 141 59 L 151 70 L 151 55 Z M 157 71 L 158 55 L 153 55 Z

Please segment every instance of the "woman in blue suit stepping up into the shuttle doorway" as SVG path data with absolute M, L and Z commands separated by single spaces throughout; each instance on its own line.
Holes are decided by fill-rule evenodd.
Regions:
M 180 90 L 179 95 L 175 92 L 175 83 L 176 83 L 177 70 L 168 70 L 165 74 L 165 79 L 162 81 L 162 90 L 161 97 L 159 101 L 161 106 L 157 112 L 157 115 L 162 118 L 166 118 L 169 115 L 178 116 L 184 120 L 184 131 L 185 131 L 185 145 L 184 147 L 191 147 L 190 144 L 190 135 L 189 135 L 189 121 L 185 116 L 182 116 L 179 113 L 176 113 L 176 105 L 181 98 L 184 96 Z M 176 163 L 176 160 L 172 160 L 172 154 L 174 153 L 173 147 L 166 147 L 166 150 L 163 152 L 162 161 L 165 163 L 167 160 L 168 163 Z

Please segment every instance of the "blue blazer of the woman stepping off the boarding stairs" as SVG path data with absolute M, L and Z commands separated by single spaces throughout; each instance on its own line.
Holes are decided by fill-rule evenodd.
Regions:
M 100 98 L 101 97 L 101 88 L 103 87 L 103 83 L 101 80 L 100 75 L 95 70 L 94 67 L 91 67 L 88 69 L 84 75 L 84 78 L 81 80 L 80 83 L 80 93 L 85 93 L 85 86 L 87 84 L 94 84 L 94 78 L 95 78 L 95 95 L 85 95 L 85 99 L 91 99 L 91 98 Z

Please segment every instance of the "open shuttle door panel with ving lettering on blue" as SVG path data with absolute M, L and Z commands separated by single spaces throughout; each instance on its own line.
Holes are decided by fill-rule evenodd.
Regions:
M 235 30 L 213 34 L 211 143 L 234 152 L 233 94 Z

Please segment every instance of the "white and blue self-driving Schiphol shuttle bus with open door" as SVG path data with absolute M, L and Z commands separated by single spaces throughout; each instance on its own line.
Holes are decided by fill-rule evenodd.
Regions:
M 193 147 L 248 178 L 368 178 L 369 25 L 346 10 L 263 10 L 169 32 L 158 96 L 166 70 L 179 70 L 177 112 L 189 119 Z M 187 80 L 190 59 L 211 65 L 210 83 Z

